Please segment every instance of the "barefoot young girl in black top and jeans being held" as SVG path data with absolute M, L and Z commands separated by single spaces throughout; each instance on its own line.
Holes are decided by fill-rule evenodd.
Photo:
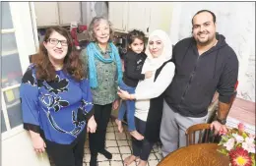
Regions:
M 119 84 L 119 87 L 122 90 L 126 90 L 129 93 L 134 93 L 135 88 L 139 81 L 149 79 L 152 77 L 152 72 L 148 71 L 145 74 L 142 74 L 142 67 L 147 58 L 147 55 L 144 53 L 144 42 L 145 34 L 143 31 L 134 29 L 128 33 L 127 36 L 129 50 L 124 56 L 124 74 L 123 82 Z M 123 132 L 122 120 L 123 116 L 127 111 L 127 123 L 128 130 L 132 137 L 136 139 L 143 139 L 144 137 L 137 132 L 134 122 L 134 113 L 135 113 L 135 101 L 134 100 L 125 100 L 122 101 L 118 118 L 116 119 L 116 124 L 118 126 L 118 131 Z

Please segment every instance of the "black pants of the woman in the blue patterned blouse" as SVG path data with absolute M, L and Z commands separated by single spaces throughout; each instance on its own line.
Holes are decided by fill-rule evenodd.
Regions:
M 46 152 L 55 166 L 83 166 L 86 129 L 71 144 L 59 144 L 44 138 Z

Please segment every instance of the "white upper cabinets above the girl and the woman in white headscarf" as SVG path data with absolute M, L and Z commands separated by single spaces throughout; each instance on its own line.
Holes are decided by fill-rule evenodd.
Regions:
M 160 28 L 169 33 L 172 2 L 109 2 L 109 20 L 116 30 L 137 28 L 149 34 Z

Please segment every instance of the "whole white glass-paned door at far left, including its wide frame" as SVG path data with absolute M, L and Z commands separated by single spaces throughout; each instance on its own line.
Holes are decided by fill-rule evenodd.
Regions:
M 23 130 L 20 85 L 35 53 L 29 2 L 2 2 L 1 132 L 2 139 Z M 20 132 L 18 132 L 20 131 Z

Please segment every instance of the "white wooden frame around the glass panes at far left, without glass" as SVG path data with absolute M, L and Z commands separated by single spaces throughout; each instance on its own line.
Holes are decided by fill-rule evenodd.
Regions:
M 17 53 L 19 53 L 19 60 L 21 64 L 22 73 L 24 74 L 30 65 L 29 56 L 35 54 L 38 48 L 38 39 L 36 26 L 34 27 L 34 17 L 32 17 L 32 8 L 29 2 L 8 2 L 10 6 L 10 13 L 12 17 L 13 28 L 1 29 L 1 33 L 14 33 L 16 38 Z M 33 22 L 33 23 L 32 23 Z M 34 34 L 36 32 L 36 34 Z M 32 37 L 28 37 L 32 36 Z M 36 40 L 37 39 L 37 40 Z M 12 51 L 11 51 L 12 52 Z M 12 53 L 16 53 L 12 52 Z M 9 54 L 9 53 L 7 53 Z M 2 56 L 2 55 L 1 55 Z M 8 55 L 5 55 L 8 56 Z M 3 118 L 5 120 L 6 131 L 2 133 L 2 141 L 14 137 L 15 135 L 24 132 L 23 124 L 12 128 L 10 125 L 4 92 L 10 89 L 18 88 L 21 83 L 1 87 L 1 107 L 3 111 Z

